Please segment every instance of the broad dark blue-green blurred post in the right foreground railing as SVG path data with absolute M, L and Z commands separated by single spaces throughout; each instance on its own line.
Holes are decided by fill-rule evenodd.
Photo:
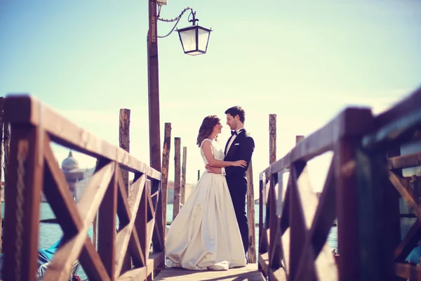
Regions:
M 385 216 L 387 171 L 383 153 L 356 151 L 358 233 L 361 280 L 392 280 L 392 230 Z M 339 228 L 341 224 L 338 222 Z M 341 259 L 342 252 L 340 251 Z

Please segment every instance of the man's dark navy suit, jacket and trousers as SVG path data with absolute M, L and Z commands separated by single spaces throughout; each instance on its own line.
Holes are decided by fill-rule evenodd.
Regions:
M 231 136 L 232 138 L 233 136 Z M 246 215 L 246 195 L 247 195 L 247 178 L 246 171 L 248 164 L 250 164 L 251 155 L 255 144 L 253 138 L 245 129 L 241 129 L 238 133 L 232 145 L 227 151 L 227 147 L 231 138 L 228 139 L 225 145 L 225 158 L 224 161 L 237 161 L 244 160 L 247 162 L 247 166 L 227 166 L 225 167 L 225 174 L 227 178 L 227 184 L 229 194 L 232 198 L 232 204 L 234 205 L 234 211 L 237 222 L 239 224 L 241 239 L 243 240 L 244 251 L 248 250 L 248 223 Z

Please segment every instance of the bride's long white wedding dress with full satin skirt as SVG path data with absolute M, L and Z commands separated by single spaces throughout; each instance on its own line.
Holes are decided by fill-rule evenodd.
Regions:
M 209 141 L 213 157 L 224 152 Z M 201 156 L 208 164 L 201 149 Z M 225 176 L 205 171 L 166 237 L 166 266 L 189 270 L 228 270 L 246 266 L 243 242 Z

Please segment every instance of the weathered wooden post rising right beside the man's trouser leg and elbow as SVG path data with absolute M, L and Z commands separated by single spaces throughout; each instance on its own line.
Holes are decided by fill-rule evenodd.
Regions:
M 256 237 L 255 237 L 255 209 L 253 187 L 253 165 L 247 169 L 247 221 L 248 221 L 248 262 L 256 263 Z

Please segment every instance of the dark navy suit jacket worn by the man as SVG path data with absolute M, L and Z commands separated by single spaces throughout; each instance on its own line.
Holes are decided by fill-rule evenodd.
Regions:
M 232 138 L 232 136 L 231 136 Z M 231 138 L 228 139 L 225 145 L 225 158 L 224 161 L 237 161 L 243 159 L 247 162 L 247 166 L 227 166 L 225 167 L 225 174 L 227 178 L 228 188 L 245 188 L 247 190 L 246 171 L 251 161 L 251 155 L 255 148 L 253 138 L 246 130 L 240 131 L 232 142 L 231 147 L 227 151 L 227 146 Z

